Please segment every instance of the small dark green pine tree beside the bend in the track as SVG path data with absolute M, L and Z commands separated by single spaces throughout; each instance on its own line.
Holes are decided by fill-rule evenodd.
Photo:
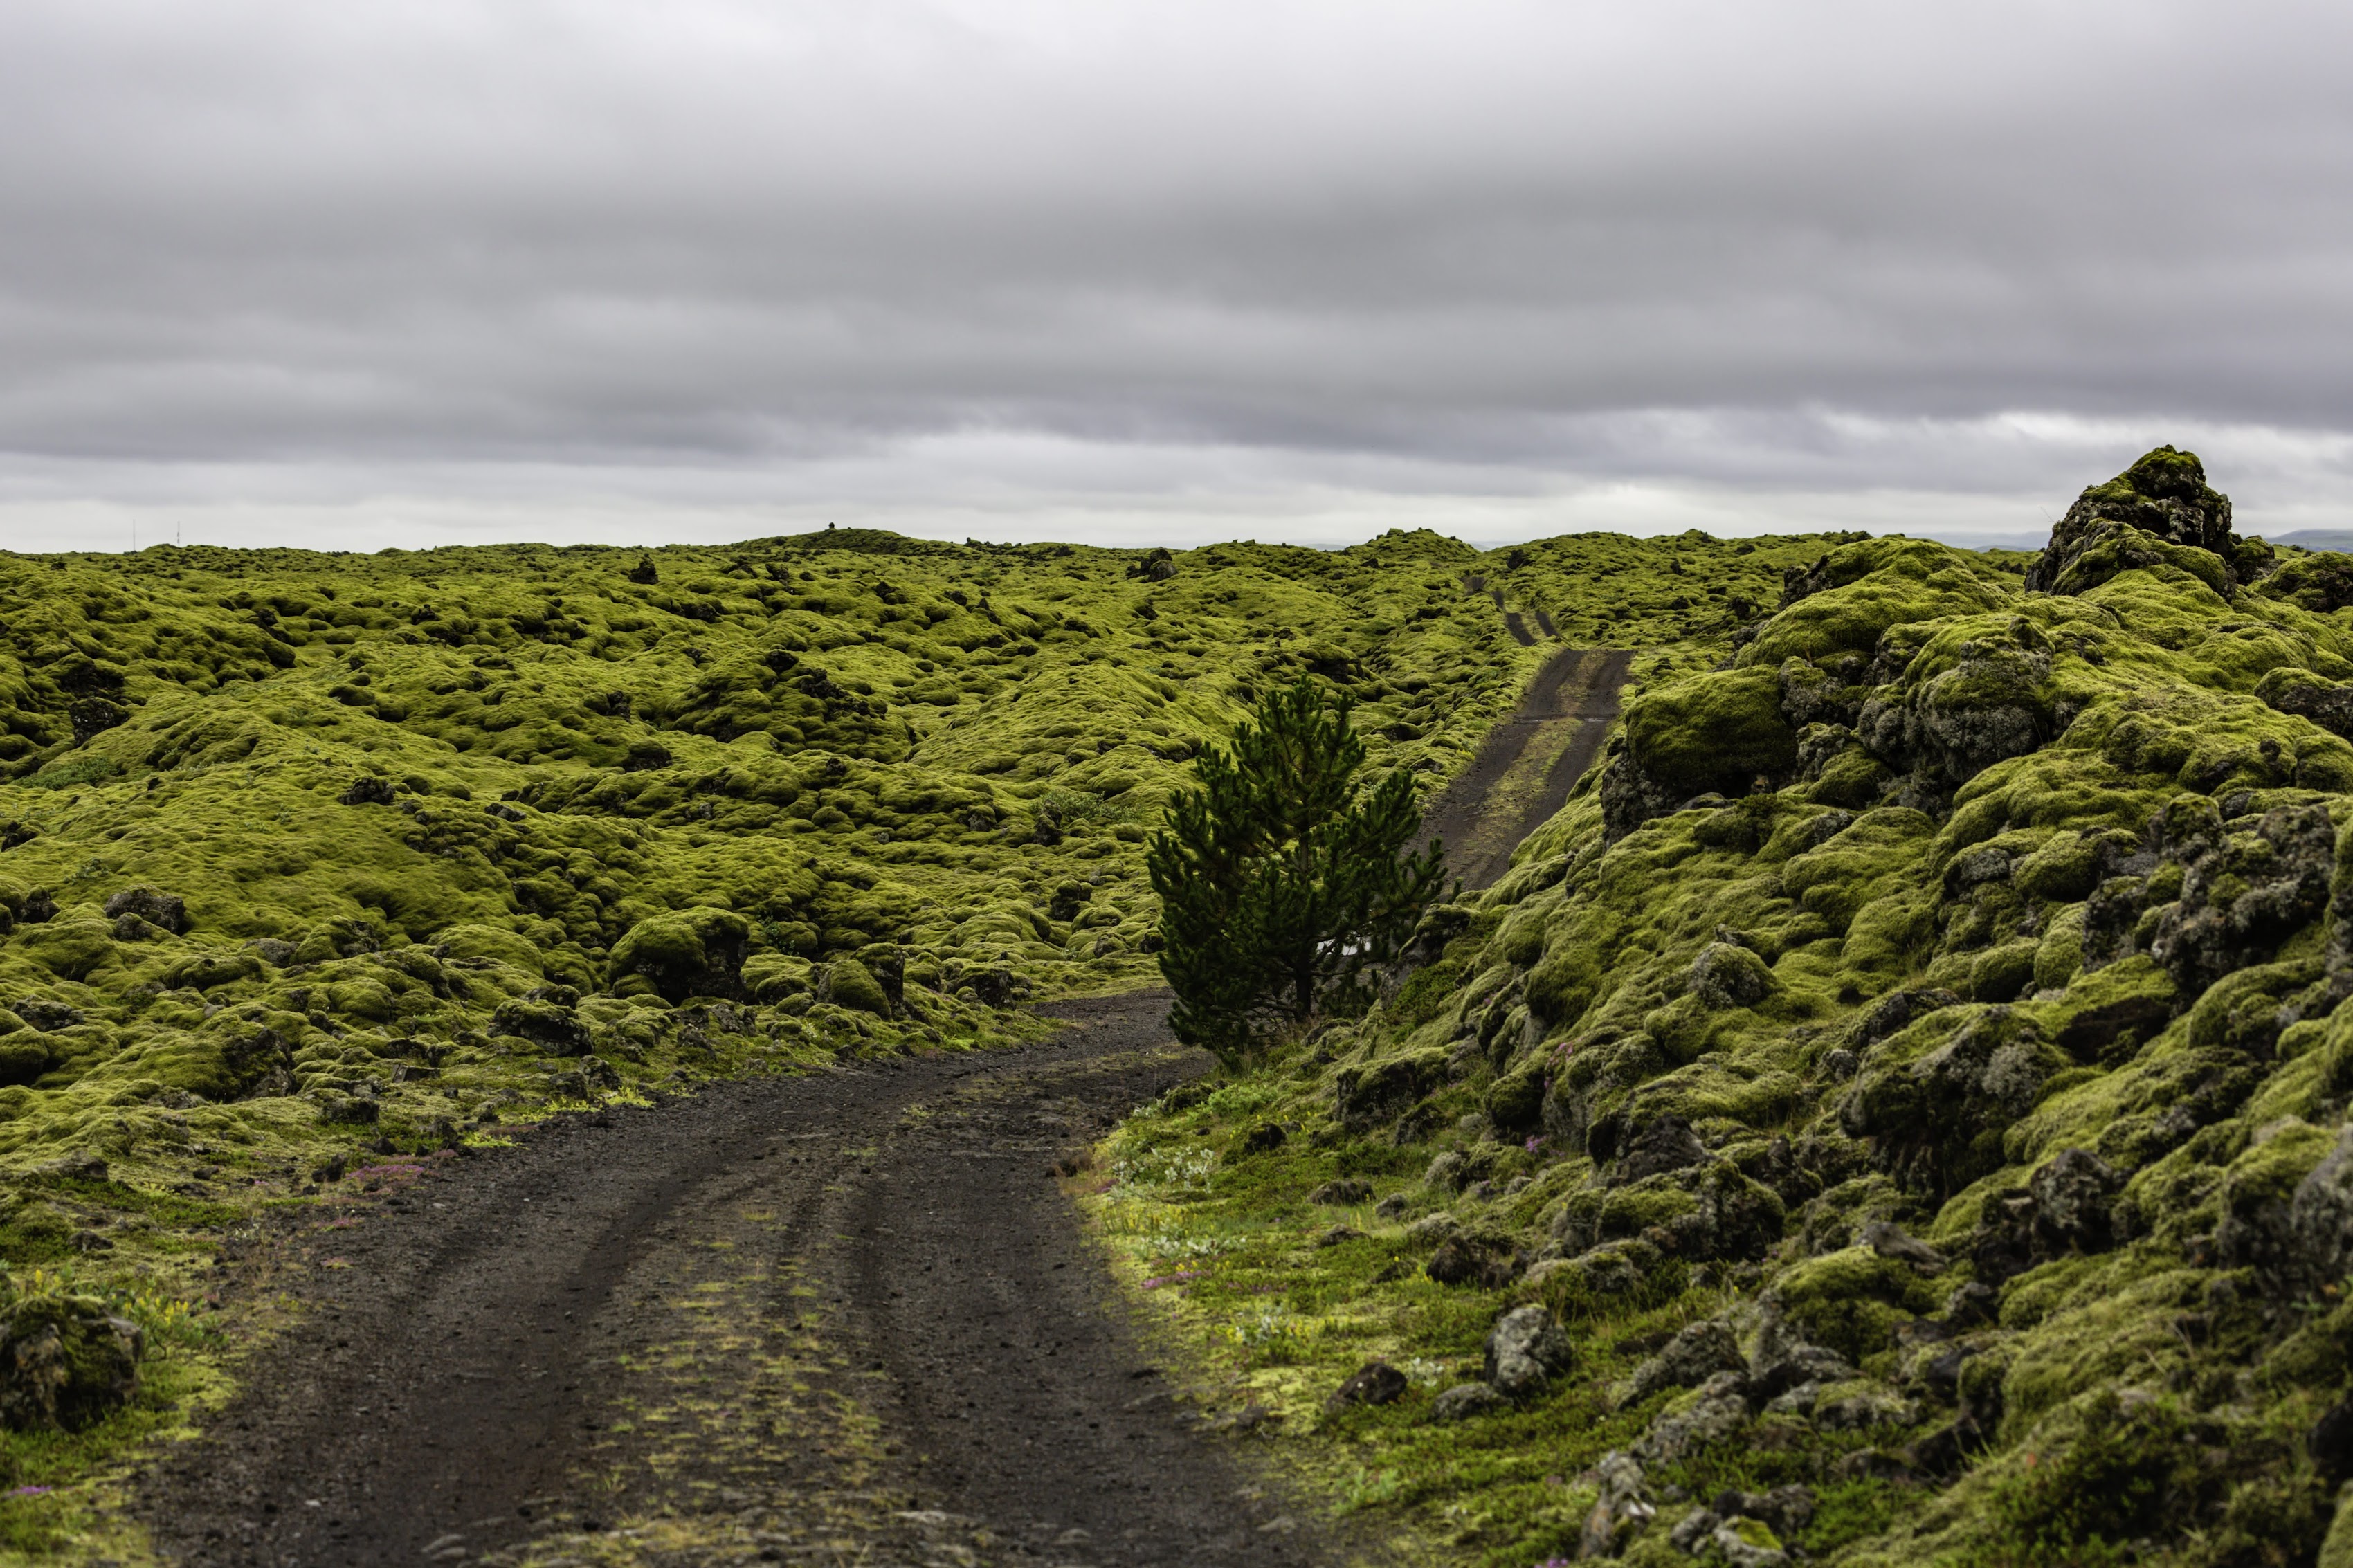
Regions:
M 1200 789 L 1146 852 L 1169 1024 L 1228 1067 L 1393 963 L 1445 883 L 1438 843 L 1405 848 L 1421 829 L 1412 777 L 1358 779 L 1351 706 L 1308 680 L 1273 692 L 1231 751 L 1200 753 Z

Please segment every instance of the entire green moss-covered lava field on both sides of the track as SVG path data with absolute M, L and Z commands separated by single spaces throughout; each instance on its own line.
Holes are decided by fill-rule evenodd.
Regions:
M 0 1542 L 120 1540 L 273 1215 L 1031 1036 L 1155 982 L 1144 838 L 1273 683 L 1435 798 L 1614 647 L 1369 1012 L 1066 1163 L 1188 1398 L 1409 1561 L 2353 1563 L 2353 560 L 2186 454 L 2040 556 L 146 551 L 0 622 L 0 1253 L 146 1356 L 12 1422 Z

